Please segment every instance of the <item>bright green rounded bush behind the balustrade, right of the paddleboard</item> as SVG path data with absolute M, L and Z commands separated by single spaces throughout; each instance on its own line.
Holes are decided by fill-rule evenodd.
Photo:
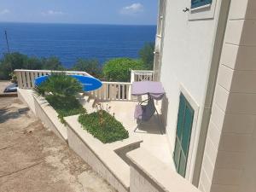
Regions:
M 111 81 L 128 82 L 131 79 L 131 70 L 143 69 L 143 61 L 129 58 L 109 60 L 103 67 L 105 78 Z

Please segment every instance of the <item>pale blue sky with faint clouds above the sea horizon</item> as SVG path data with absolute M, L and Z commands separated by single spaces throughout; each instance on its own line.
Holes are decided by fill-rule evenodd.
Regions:
M 156 25 L 158 0 L 0 0 L 0 22 Z

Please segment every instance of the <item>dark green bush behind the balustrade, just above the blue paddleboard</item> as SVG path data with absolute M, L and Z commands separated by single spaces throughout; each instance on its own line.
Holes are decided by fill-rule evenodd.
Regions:
M 102 76 L 102 67 L 96 59 L 79 59 L 74 64 L 73 70 L 89 73 L 96 78 Z

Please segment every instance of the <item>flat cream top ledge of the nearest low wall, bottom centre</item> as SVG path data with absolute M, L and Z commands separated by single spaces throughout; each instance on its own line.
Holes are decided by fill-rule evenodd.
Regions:
M 128 153 L 127 156 L 131 160 L 131 167 L 150 185 L 154 186 L 154 189 L 160 192 L 200 192 L 199 189 L 178 175 L 177 172 L 174 172 L 170 167 L 149 154 L 146 149 L 138 148 Z M 133 189 L 133 186 L 131 186 L 131 189 Z

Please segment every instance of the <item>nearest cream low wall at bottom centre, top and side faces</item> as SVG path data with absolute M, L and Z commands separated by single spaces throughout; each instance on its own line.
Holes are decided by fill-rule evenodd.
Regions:
M 130 192 L 200 192 L 145 149 L 127 155 L 131 160 Z

